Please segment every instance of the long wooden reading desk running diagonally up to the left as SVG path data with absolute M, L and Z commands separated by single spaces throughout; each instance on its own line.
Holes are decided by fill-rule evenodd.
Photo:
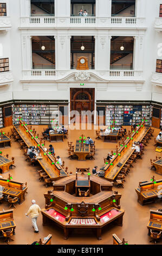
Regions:
M 55 160 L 51 154 L 47 154 L 44 147 L 40 144 L 38 138 L 34 137 L 33 132 L 28 129 L 28 126 L 25 125 L 21 120 L 20 124 L 14 125 L 14 128 L 23 139 L 27 147 L 37 146 L 40 149 L 40 154 L 42 159 L 37 159 L 40 163 L 44 172 L 47 173 L 51 180 L 56 180 L 67 176 L 67 173 L 62 169 L 60 164 L 55 163 Z

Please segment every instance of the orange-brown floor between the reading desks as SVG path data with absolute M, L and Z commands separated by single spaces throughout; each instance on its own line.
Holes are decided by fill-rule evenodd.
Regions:
M 40 134 L 43 130 L 43 126 L 33 126 L 36 131 Z M 128 129 L 128 127 L 127 127 Z M 10 127 L 3 129 L 5 132 L 10 131 Z M 154 137 L 157 137 L 159 133 L 158 129 L 154 131 Z M 68 158 L 68 145 L 67 141 L 75 142 L 79 139 L 80 135 L 89 136 L 95 139 L 95 130 L 69 130 L 69 138 L 65 139 L 64 142 L 50 143 L 46 142 L 46 147 L 49 144 L 53 144 L 56 156 L 60 155 L 62 161 L 65 162 L 65 166 L 68 166 L 68 170 L 75 173 L 76 167 L 90 167 L 90 173 L 92 173 L 92 168 L 96 165 L 102 167 L 103 157 L 107 156 L 107 153 L 111 150 L 115 150 L 116 143 L 107 143 L 101 140 L 95 141 L 96 154 L 95 160 L 87 160 L 86 162 L 79 162 L 77 160 L 69 160 Z M 3 154 L 9 154 L 9 159 L 15 157 L 16 168 L 10 170 L 10 172 L 3 174 L 4 178 L 8 177 L 10 173 L 14 180 L 26 182 L 28 186 L 28 194 L 25 197 L 25 202 L 21 205 L 16 205 L 14 210 L 14 220 L 16 222 L 16 235 L 12 237 L 14 239 L 10 244 L 13 245 L 25 245 L 30 244 L 33 241 L 38 241 L 40 238 L 46 237 L 48 234 L 52 234 L 51 243 L 55 244 L 113 244 L 113 233 L 118 235 L 120 239 L 125 238 L 129 244 L 136 245 L 147 245 L 150 244 L 151 237 L 147 236 L 147 223 L 150 218 L 150 209 L 157 210 L 162 208 L 161 203 L 147 204 L 141 206 L 137 202 L 137 193 L 135 193 L 135 188 L 138 187 L 139 181 L 150 180 L 152 175 L 155 175 L 155 179 L 161 179 L 161 175 L 155 174 L 154 170 L 150 170 L 150 159 L 162 155 L 162 153 L 155 152 L 155 147 L 153 147 L 154 138 L 149 141 L 146 147 L 145 154 L 142 156 L 142 160 L 138 160 L 134 163 L 134 168 L 126 176 L 126 182 L 124 188 L 113 187 L 113 190 L 118 190 L 121 196 L 121 208 L 125 210 L 123 226 L 109 225 L 102 232 L 102 240 L 97 240 L 92 233 L 72 233 L 68 240 L 63 240 L 63 230 L 58 228 L 56 225 L 43 226 L 42 225 L 42 215 L 38 217 L 38 229 L 40 233 L 35 234 L 33 227 L 31 225 L 31 219 L 25 216 L 31 205 L 31 200 L 35 199 L 36 203 L 44 208 L 45 200 L 43 193 L 52 189 L 52 187 L 44 187 L 43 182 L 38 180 L 39 176 L 36 172 L 37 169 L 41 169 L 39 166 L 33 167 L 29 166 L 29 163 L 25 161 L 23 151 L 20 149 L 20 144 L 14 142 L 12 139 L 12 147 L 8 149 L 3 149 Z M 8 209 L 7 202 L 0 204 L 0 211 Z M 162 240 L 161 242 L 162 243 Z M 0 240 L 0 244 L 4 244 Z

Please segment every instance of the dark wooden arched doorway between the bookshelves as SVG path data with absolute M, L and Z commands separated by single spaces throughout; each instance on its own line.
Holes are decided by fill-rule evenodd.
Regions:
M 94 116 L 92 119 L 88 120 L 87 115 L 84 116 L 84 113 L 87 111 L 94 111 L 94 88 L 71 88 L 70 89 L 70 110 L 77 111 L 79 113 L 79 121 L 85 120 L 94 121 Z M 82 115 L 82 119 L 81 119 Z

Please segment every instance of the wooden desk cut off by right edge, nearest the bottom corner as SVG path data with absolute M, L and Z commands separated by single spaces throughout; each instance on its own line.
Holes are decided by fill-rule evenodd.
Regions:
M 150 229 L 162 231 L 162 211 L 150 210 L 150 221 L 147 224 L 148 235 L 151 234 Z

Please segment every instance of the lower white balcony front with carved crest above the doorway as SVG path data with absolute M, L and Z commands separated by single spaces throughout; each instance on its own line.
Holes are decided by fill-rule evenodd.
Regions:
M 144 82 L 143 72 L 135 70 L 23 70 L 22 82 L 24 81 L 94 81 L 94 82 Z

